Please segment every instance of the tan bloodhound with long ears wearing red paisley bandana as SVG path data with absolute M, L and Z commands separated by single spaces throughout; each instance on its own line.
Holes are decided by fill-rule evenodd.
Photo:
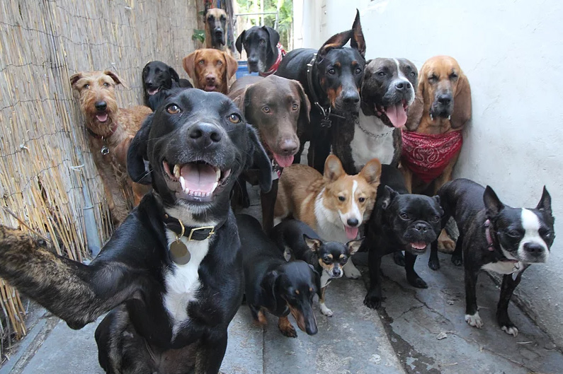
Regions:
M 460 65 L 449 56 L 428 59 L 409 109 L 408 131 L 403 132 L 402 166 L 409 192 L 433 196 L 452 179 L 461 151 L 461 130 L 470 118 L 471 88 Z M 455 247 L 445 230 L 438 242 L 448 250 Z

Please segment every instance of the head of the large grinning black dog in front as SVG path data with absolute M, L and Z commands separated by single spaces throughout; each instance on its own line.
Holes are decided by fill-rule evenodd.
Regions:
M 144 122 L 127 155 L 132 180 L 152 180 L 165 209 L 185 207 L 194 221 L 224 216 L 233 183 L 252 163 L 261 168 L 261 187 L 269 190 L 270 162 L 256 132 L 227 96 L 203 90 L 173 90 Z

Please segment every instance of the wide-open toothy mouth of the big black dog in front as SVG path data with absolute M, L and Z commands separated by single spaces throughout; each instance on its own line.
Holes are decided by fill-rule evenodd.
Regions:
M 195 201 L 212 201 L 213 193 L 227 184 L 231 170 L 221 170 L 205 161 L 171 164 L 162 167 L 179 197 Z

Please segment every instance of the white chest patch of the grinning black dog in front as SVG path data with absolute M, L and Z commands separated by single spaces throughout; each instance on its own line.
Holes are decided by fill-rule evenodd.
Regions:
M 169 245 L 176 240 L 176 233 L 166 229 Z M 187 264 L 174 264 L 164 270 L 164 307 L 172 321 L 172 333 L 175 336 L 182 325 L 188 320 L 188 304 L 197 300 L 200 289 L 198 269 L 209 251 L 209 239 L 192 240 L 183 236 L 181 241 L 188 247 L 191 259 Z

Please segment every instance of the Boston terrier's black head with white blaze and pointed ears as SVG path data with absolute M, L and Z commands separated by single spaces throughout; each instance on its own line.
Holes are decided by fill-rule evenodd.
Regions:
M 511 208 L 487 186 L 483 194 L 487 218 L 491 221 L 501 250 L 508 259 L 521 262 L 547 262 L 555 238 L 551 197 L 547 189 L 534 209 Z

